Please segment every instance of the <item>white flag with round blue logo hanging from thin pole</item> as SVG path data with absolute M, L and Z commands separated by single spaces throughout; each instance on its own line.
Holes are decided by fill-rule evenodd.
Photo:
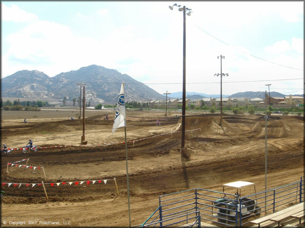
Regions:
M 112 133 L 114 133 L 117 128 L 126 126 L 125 116 L 124 83 L 122 83 L 119 99 L 117 101 L 117 111 L 115 112 Z

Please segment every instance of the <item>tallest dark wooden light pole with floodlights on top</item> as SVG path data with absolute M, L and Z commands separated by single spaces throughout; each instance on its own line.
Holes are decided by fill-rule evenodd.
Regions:
M 185 146 L 185 40 L 186 40 L 186 33 L 185 33 L 185 14 L 186 11 L 188 13 L 187 16 L 191 16 L 192 9 L 188 9 L 185 6 L 182 8 L 181 5 L 174 4 L 173 6 L 169 6 L 171 10 L 173 10 L 174 6 L 179 7 L 179 11 L 183 11 L 183 81 L 182 81 L 182 131 L 181 131 L 181 149 Z

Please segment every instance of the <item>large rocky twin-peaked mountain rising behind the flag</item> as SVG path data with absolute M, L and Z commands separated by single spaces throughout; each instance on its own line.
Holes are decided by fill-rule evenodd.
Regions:
M 18 71 L 1 78 L 1 96 L 45 99 L 66 97 L 67 101 L 71 101 L 80 95 L 77 82 L 86 83 L 85 98 L 91 102 L 116 103 L 122 82 L 125 82 L 126 101 L 165 99 L 165 96 L 127 74 L 97 65 L 60 73 L 52 78 L 41 71 Z

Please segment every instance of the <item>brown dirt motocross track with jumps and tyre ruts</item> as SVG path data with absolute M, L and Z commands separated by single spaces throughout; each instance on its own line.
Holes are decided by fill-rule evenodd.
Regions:
M 220 115 L 187 116 L 185 145 L 194 149 L 189 159 L 181 158 L 181 132 L 178 132 L 181 119 L 163 120 L 161 126 L 147 119 L 127 117 L 131 226 L 142 224 L 155 211 L 159 195 L 191 188 L 222 191 L 222 184 L 238 180 L 254 182 L 257 192 L 264 190 L 262 115 L 224 115 L 222 127 Z M 304 118 L 271 116 L 270 119 L 267 122 L 268 188 L 299 181 L 304 175 Z M 124 128 L 112 135 L 112 124 L 101 115 L 87 118 L 88 145 L 80 146 L 82 120 L 27 125 L 2 121 L 1 144 L 22 147 L 31 138 L 39 147 L 68 146 L 39 148 L 38 152 L 27 154 L 20 150 L 1 154 L 2 183 L 55 183 L 53 187 L 45 185 L 48 201 L 42 185 L 20 188 L 2 185 L 5 194 L 1 226 L 14 226 L 9 221 L 24 221 L 22 226 L 27 227 L 55 226 L 28 223 L 59 221 L 61 225 L 56 226 L 128 227 Z M 25 158 L 29 158 L 28 166 L 44 167 L 46 178 L 41 169 L 9 166 L 6 172 L 7 163 Z M 86 182 L 105 179 L 106 184 Z M 84 183 L 56 184 L 74 181 Z

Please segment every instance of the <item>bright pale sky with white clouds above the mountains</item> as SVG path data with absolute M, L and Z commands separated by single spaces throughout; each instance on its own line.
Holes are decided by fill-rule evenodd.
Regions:
M 268 92 L 271 84 L 270 92 L 304 93 L 304 1 L 1 1 L 1 78 L 96 64 L 160 94 L 180 92 L 184 26 L 175 3 L 192 10 L 187 92 Z

